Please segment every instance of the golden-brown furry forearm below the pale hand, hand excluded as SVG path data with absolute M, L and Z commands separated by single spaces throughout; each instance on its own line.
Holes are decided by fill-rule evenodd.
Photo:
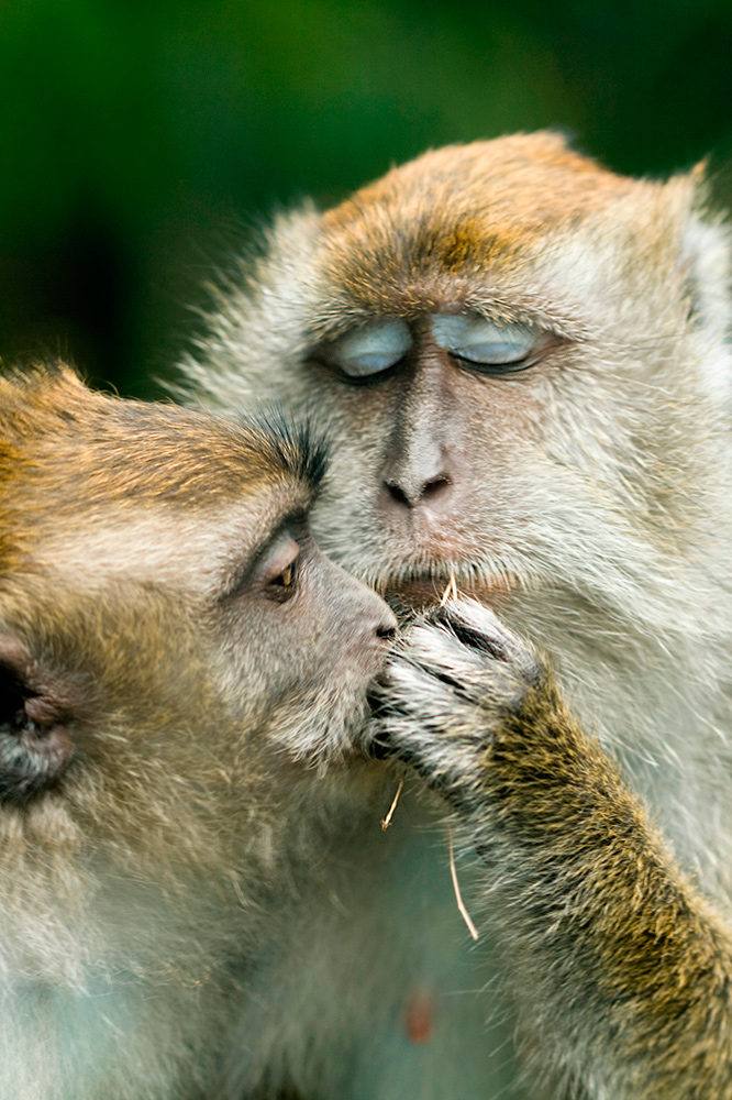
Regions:
M 526 717 L 495 738 L 464 821 L 529 1012 L 613 1100 L 732 1097 L 728 935 L 562 705 Z

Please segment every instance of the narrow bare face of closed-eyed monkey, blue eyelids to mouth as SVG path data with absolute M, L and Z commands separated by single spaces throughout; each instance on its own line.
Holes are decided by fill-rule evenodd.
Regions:
M 375 319 L 322 342 L 306 370 L 347 425 L 317 517 L 336 557 L 353 564 L 355 543 L 359 572 L 418 604 L 440 600 L 452 574 L 484 591 L 524 575 L 537 373 L 563 351 L 539 326 L 464 310 Z

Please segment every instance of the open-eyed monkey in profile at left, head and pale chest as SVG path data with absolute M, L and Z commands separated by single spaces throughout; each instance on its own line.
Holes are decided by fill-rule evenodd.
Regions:
M 393 634 L 309 536 L 322 466 L 276 425 L 63 367 L 0 377 L 2 1100 L 307 1080 L 313 1018 L 335 1010 L 307 966 L 287 1003 L 269 975 L 339 889 L 332 835 L 364 816 L 343 792 L 365 805 L 368 785 L 345 765 Z

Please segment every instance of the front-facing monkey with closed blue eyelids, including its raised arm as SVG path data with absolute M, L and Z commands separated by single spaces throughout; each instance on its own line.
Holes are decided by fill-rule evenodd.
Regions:
M 732 1097 L 729 283 L 702 170 L 634 180 L 520 134 L 279 218 L 184 365 L 203 404 L 329 426 L 336 561 L 400 606 L 490 608 L 413 627 L 378 739 L 474 853 L 487 972 L 556 1092 Z M 402 866 L 421 840 L 436 867 L 398 813 Z M 429 888 L 421 914 L 443 920 Z M 441 1033 L 467 989 L 499 999 L 451 935 L 423 945 L 464 1086 L 435 1094 L 503 1097 Z

